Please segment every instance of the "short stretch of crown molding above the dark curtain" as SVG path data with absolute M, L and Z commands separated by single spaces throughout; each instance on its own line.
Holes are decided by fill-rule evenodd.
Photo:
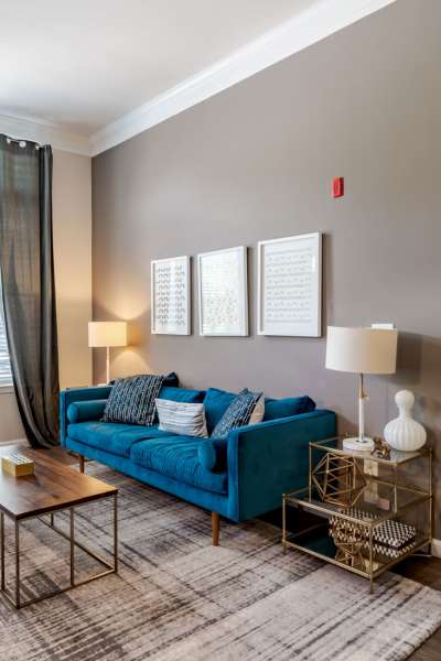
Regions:
M 0 115 L 0 133 L 6 133 L 11 138 L 32 140 L 40 144 L 51 144 L 54 149 L 74 154 L 90 156 L 89 138 L 66 133 L 63 127 L 50 121 Z

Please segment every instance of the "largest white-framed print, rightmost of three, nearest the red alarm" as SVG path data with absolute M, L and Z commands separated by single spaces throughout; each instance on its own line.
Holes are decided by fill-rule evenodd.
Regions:
M 322 234 L 258 242 L 257 333 L 322 336 Z

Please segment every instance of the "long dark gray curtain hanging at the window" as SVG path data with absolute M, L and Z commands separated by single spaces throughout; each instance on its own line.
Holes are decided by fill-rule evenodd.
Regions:
M 0 268 L 17 401 L 33 447 L 58 443 L 52 150 L 0 134 Z

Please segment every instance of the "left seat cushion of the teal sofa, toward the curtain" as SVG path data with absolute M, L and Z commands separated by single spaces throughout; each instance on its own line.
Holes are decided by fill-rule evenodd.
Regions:
M 133 443 L 144 438 L 170 435 L 154 426 L 139 426 L 117 422 L 77 422 L 67 426 L 67 435 L 74 441 L 97 447 L 104 452 L 129 457 Z

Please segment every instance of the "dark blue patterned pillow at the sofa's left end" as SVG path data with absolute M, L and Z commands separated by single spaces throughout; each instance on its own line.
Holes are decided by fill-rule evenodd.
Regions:
M 103 422 L 125 422 L 151 426 L 154 421 L 154 400 L 164 377 L 142 375 L 117 379 L 104 410 Z

